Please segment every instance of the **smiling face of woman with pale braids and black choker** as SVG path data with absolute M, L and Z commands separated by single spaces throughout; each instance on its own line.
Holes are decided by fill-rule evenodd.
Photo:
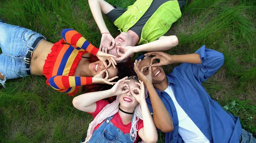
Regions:
M 135 87 L 140 88 L 139 85 L 135 84 L 135 80 L 131 79 L 130 82 L 127 82 L 126 84 L 128 84 L 129 86 L 129 91 L 128 93 L 119 95 L 119 102 L 120 102 L 120 107 L 121 109 L 134 109 L 136 107 L 136 105 L 139 103 L 134 97 L 133 95 L 131 95 L 131 90 L 134 89 Z M 123 90 L 127 90 L 127 87 L 124 87 Z M 139 91 L 134 90 L 135 94 L 139 94 Z

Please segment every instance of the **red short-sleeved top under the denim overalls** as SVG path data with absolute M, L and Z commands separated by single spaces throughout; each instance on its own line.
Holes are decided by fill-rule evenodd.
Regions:
M 92 114 L 93 115 L 93 119 L 96 117 L 96 115 L 99 114 L 99 112 L 107 105 L 107 104 L 110 104 L 107 100 L 100 100 L 100 101 L 97 101 L 96 102 L 96 110 L 93 112 L 93 113 L 89 113 L 89 114 Z M 130 130 L 131 130 L 131 122 L 128 123 L 127 125 L 124 125 L 122 123 L 122 119 L 119 115 L 119 113 L 117 112 L 113 118 L 111 119 L 111 122 L 118 128 L 120 129 L 124 134 L 128 134 L 130 133 Z M 98 129 L 99 126 L 101 125 L 102 123 L 98 124 L 95 129 Z M 138 121 L 138 132 L 140 131 L 140 129 L 143 128 L 143 120 L 140 120 Z M 94 129 L 94 130 L 95 130 Z M 135 142 L 137 141 L 137 139 L 139 138 L 139 133 L 137 132 L 137 137 L 135 139 Z

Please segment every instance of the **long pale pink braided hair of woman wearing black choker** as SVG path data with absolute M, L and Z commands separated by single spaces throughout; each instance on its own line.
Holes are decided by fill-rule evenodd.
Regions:
M 138 79 L 135 79 L 134 77 L 136 77 L 136 76 L 130 76 L 128 79 L 134 79 L 134 80 L 138 81 Z M 145 88 L 145 93 L 146 93 L 145 98 L 147 98 L 146 88 Z M 99 114 L 89 124 L 89 128 L 88 128 L 88 131 L 87 131 L 87 137 L 85 138 L 85 143 L 89 142 L 90 138 L 93 135 L 93 130 L 95 129 L 95 127 L 99 123 L 102 123 L 106 118 L 108 118 L 112 115 L 115 115 L 118 112 L 119 103 L 120 102 L 119 102 L 119 95 L 118 95 L 118 96 L 116 96 L 115 101 L 113 101 L 111 104 L 106 105 L 99 112 Z M 134 138 L 131 138 L 131 141 L 135 141 L 135 139 L 137 137 L 137 131 L 138 131 L 138 124 L 137 123 L 138 123 L 139 119 L 143 120 L 143 117 L 142 117 L 140 104 L 137 104 L 137 106 L 134 109 L 134 115 L 133 115 L 133 119 L 132 119 L 132 123 L 131 123 L 130 138 L 134 137 Z M 144 141 L 141 141 L 140 143 L 144 143 Z

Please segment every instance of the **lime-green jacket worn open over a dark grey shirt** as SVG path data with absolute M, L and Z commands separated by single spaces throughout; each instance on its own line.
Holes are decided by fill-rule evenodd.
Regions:
M 137 0 L 133 5 L 128 6 L 114 24 L 124 32 L 127 32 L 148 10 L 153 0 Z M 163 3 L 157 11 L 148 19 L 143 27 L 140 42 L 138 45 L 155 41 L 163 36 L 172 26 L 172 23 L 181 17 L 180 7 L 177 0 L 170 0 Z

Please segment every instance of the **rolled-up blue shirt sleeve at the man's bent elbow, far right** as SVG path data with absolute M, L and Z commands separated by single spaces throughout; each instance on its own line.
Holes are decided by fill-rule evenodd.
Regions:
M 194 76 L 201 82 L 206 81 L 224 64 L 223 53 L 207 49 L 205 45 L 195 53 L 199 54 L 202 63 L 192 64 L 192 71 Z

